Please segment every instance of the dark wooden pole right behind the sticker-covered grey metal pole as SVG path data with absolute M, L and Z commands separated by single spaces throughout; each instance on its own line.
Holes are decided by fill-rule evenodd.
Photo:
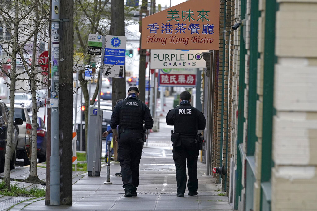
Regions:
M 73 13 L 74 2 L 60 2 L 60 18 L 69 21 L 60 22 L 60 170 L 61 205 L 72 204 L 72 144 L 73 144 Z M 75 146 L 74 146 L 75 147 Z

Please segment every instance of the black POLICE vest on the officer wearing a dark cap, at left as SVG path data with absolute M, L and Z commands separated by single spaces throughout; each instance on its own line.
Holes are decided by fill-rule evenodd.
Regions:
M 120 109 L 120 129 L 141 130 L 143 126 L 142 101 L 129 97 L 123 100 Z

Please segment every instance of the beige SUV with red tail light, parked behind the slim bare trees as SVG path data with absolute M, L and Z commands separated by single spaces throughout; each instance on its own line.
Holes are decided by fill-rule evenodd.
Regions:
M 6 104 L 9 109 L 9 104 Z M 16 149 L 16 158 L 24 159 L 24 165 L 29 165 L 29 152 L 26 149 L 26 145 L 29 145 L 31 140 L 31 120 L 28 111 L 24 105 L 14 105 L 14 116 L 13 118 L 21 118 L 23 124 L 19 125 L 19 140 Z

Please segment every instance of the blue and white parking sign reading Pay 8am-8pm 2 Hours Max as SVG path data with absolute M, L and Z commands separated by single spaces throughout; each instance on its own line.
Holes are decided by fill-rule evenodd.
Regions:
M 103 76 L 123 78 L 126 63 L 126 37 L 107 35 Z

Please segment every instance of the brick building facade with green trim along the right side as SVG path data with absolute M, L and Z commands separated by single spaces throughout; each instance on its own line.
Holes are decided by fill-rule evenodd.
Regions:
M 226 168 L 214 177 L 236 210 L 315 210 L 317 1 L 220 2 L 205 86 L 207 173 Z

